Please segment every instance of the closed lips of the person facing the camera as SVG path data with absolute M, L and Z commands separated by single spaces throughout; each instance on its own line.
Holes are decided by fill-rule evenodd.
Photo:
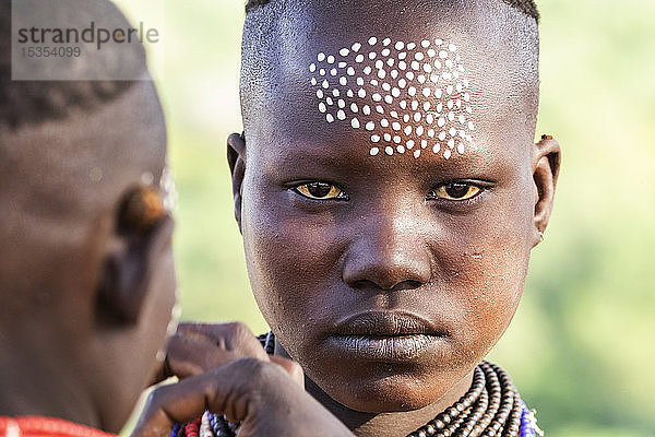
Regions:
M 397 363 L 429 353 L 444 336 L 442 330 L 416 315 L 370 311 L 340 321 L 327 342 L 350 358 Z

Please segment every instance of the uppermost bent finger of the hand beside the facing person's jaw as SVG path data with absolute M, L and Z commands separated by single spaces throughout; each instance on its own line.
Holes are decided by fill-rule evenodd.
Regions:
M 178 333 L 194 339 L 205 339 L 207 342 L 234 351 L 243 357 L 266 359 L 259 340 L 250 329 L 240 322 L 233 323 L 180 323 Z

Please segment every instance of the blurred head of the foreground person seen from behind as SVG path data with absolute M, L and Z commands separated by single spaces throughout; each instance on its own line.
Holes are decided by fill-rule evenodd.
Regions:
M 163 110 L 140 44 L 52 60 L 99 73 L 130 62 L 139 81 L 13 81 L 10 3 L 0 3 L 0 415 L 118 430 L 175 303 Z M 129 25 L 108 1 L 40 4 L 35 14 L 78 28 L 94 17 Z

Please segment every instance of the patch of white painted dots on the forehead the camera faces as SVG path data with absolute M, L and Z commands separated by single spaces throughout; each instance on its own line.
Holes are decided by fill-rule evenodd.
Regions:
M 308 66 L 325 122 L 367 132 L 370 156 L 463 155 L 475 126 L 457 46 L 379 36 L 362 43 L 321 51 Z

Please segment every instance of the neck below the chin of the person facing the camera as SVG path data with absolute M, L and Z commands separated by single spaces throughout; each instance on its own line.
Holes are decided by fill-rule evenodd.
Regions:
M 275 340 L 275 354 L 291 359 L 284 350 L 284 346 L 282 346 L 277 340 Z M 338 403 L 311 379 L 305 378 L 307 391 L 358 437 L 380 436 L 380 429 L 384 429 L 384 435 L 406 436 L 433 420 L 439 413 L 443 412 L 453 403 L 457 402 L 457 400 L 471 388 L 472 382 L 473 373 L 462 378 L 460 382 L 451 388 L 438 401 L 419 410 L 393 413 L 362 413 L 350 410 Z

